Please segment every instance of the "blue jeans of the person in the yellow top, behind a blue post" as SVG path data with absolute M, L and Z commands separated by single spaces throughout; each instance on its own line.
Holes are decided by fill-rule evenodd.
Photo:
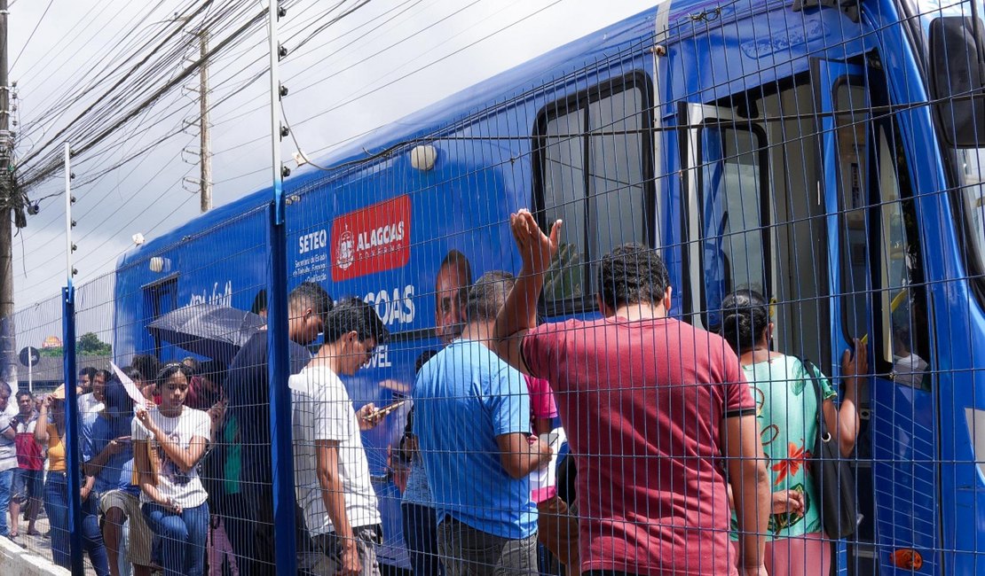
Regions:
M 102 545 L 102 531 L 99 530 L 98 503 L 95 497 L 82 503 L 82 546 L 89 554 L 89 561 L 99 576 L 109 574 L 109 559 L 106 547 Z M 51 524 L 51 558 L 55 564 L 70 568 L 69 526 L 68 526 L 68 485 L 64 472 L 49 472 L 44 486 L 44 509 Z

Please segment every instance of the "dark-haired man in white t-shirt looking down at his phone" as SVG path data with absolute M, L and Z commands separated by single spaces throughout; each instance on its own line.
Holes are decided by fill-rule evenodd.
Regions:
M 389 337 L 376 311 L 359 299 L 335 305 L 325 344 L 291 376 L 297 503 L 311 534 L 314 574 L 378 576 L 382 532 L 361 431 L 382 416 L 372 403 L 356 411 L 339 375 L 353 375 Z

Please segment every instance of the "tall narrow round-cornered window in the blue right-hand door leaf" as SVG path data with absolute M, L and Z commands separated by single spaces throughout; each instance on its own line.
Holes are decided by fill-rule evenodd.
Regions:
M 856 84 L 858 82 L 858 84 Z M 834 130 L 841 211 L 841 314 L 847 340 L 868 333 L 869 230 L 866 225 L 866 88 L 846 77 L 834 87 Z

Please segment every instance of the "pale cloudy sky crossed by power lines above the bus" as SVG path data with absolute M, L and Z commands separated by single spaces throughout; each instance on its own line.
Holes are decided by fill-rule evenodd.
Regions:
M 371 0 L 318 32 L 283 62 L 283 82 L 292 89 L 286 109 L 305 151 L 331 149 L 333 144 L 396 121 L 653 3 Z M 50 0 L 49 5 L 48 0 L 13 0 L 9 49 L 11 80 L 18 83 L 15 119 L 19 120 L 17 130 L 28 134 L 33 128 L 33 138 L 21 140 L 18 155 L 24 158 L 30 154 L 34 146 L 51 138 L 108 87 L 93 86 L 72 105 L 52 113 L 52 105 L 91 81 L 94 63 L 109 69 L 119 66 L 123 54 L 136 53 L 136 44 L 128 53 L 128 42 L 146 39 L 169 26 L 165 21 L 191 4 L 189 0 Z M 216 0 L 213 9 L 230 4 L 235 2 Z M 262 6 L 255 4 L 252 12 L 259 12 Z M 292 47 L 292 39 L 297 42 L 324 24 L 326 14 L 336 4 L 336 0 L 296 0 L 282 20 L 284 36 L 291 38 L 286 41 L 288 47 Z M 357 4 L 357 0 L 346 0 L 342 9 Z M 221 41 L 231 28 L 210 30 L 212 41 Z M 239 90 L 212 112 L 216 205 L 234 201 L 269 182 L 268 81 L 264 77 L 246 84 L 262 73 L 265 48 L 266 30 L 258 29 L 212 65 L 214 98 Z M 189 49 L 183 62 L 178 59 L 173 64 L 173 74 L 195 55 L 194 49 Z M 185 84 L 195 86 L 192 81 Z M 186 119 L 196 117 L 196 97 L 190 90 L 175 91 L 114 133 L 113 145 L 98 157 L 83 155 L 75 160 L 77 182 L 99 175 L 77 188 L 78 202 L 73 208 L 78 221 L 74 231 L 79 247 L 76 282 L 96 282 L 88 295 L 94 306 L 111 297 L 108 275 L 117 257 L 132 246 L 134 234 L 151 239 L 199 213 L 195 127 L 121 168 L 101 174 L 107 166 L 163 135 L 179 131 Z M 94 126 L 93 130 L 100 128 Z M 285 158 L 290 158 L 293 147 L 285 146 Z M 47 307 L 33 303 L 57 296 L 64 284 L 64 199 L 57 196 L 63 187 L 59 173 L 31 192 L 33 199 L 52 196 L 40 202 L 39 213 L 30 217 L 28 227 L 14 239 L 17 308 L 38 311 L 28 323 L 52 322 L 32 330 L 32 337 L 44 331 L 60 332 L 60 327 L 56 332 L 56 318 L 40 312 Z M 107 314 L 108 309 L 97 307 L 87 316 Z M 27 327 L 26 319 L 19 320 L 21 331 Z M 80 323 L 90 321 L 80 318 Z M 87 326 L 79 328 L 81 332 Z M 19 341 L 21 345 L 28 343 L 23 337 Z

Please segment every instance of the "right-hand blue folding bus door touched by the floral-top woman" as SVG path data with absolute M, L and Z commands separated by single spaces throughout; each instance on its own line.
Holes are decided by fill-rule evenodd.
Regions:
M 921 572 L 933 572 L 936 412 L 924 377 L 926 300 L 906 154 L 892 115 L 872 112 L 874 98 L 887 101 L 878 71 L 816 59 L 811 74 L 832 295 L 823 369 L 838 382 L 842 352 L 860 338 L 873 374 L 859 389 L 853 457 L 860 524 L 839 557 L 849 574 L 894 574 L 892 552 L 915 548 Z

